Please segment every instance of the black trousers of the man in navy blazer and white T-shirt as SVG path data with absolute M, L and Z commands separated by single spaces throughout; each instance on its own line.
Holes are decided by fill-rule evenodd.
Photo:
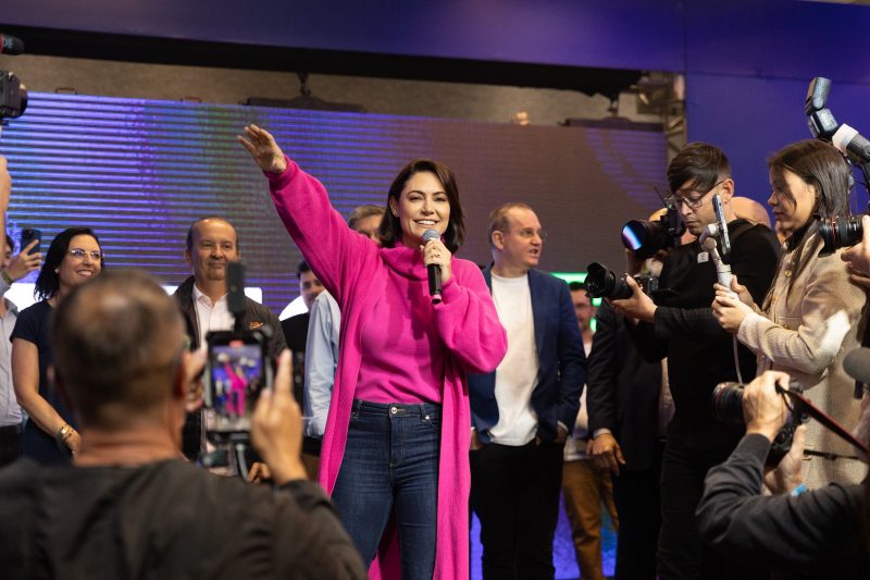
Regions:
M 490 443 L 471 452 L 471 508 L 481 520 L 483 576 L 551 579 L 563 445 Z

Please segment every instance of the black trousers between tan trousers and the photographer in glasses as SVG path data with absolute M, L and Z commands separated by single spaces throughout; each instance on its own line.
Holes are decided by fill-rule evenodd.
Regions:
M 656 551 L 661 528 L 661 458 L 664 442 L 656 445 L 646 469 L 620 470 L 613 478 L 613 501 L 619 513 L 617 580 L 655 580 Z

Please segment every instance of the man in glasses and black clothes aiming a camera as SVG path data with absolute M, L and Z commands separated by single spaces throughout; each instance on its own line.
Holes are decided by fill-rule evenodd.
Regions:
M 668 202 L 695 236 L 716 223 L 712 199 L 720 196 L 732 246 L 725 260 L 760 303 L 773 280 L 779 243 L 768 227 L 736 218 L 731 205 L 734 180 L 724 152 L 711 145 L 687 145 L 668 166 L 668 185 L 672 192 Z M 637 263 L 639 260 L 629 257 L 629 273 L 636 273 L 632 270 Z M 675 406 L 662 462 L 659 578 L 751 578 L 751 573 L 736 570 L 735 563 L 701 548 L 695 522 L 707 471 L 728 458 L 742 435 L 738 427 L 713 418 L 710 403 L 717 384 L 738 377 L 735 343 L 717 328 L 710 308 L 717 282 L 713 261 L 697 240 L 671 251 L 659 280 L 659 288 L 668 292 L 658 304 L 634 280 L 627 282 L 634 295 L 611 304 L 631 320 L 630 332 L 645 359 L 668 357 Z M 755 357 L 742 345 L 737 351 L 742 379 L 748 382 L 755 375 Z

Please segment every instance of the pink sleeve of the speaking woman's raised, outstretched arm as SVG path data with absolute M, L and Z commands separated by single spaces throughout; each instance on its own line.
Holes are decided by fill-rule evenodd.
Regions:
M 377 246 L 348 227 L 333 209 L 326 188 L 285 156 L 283 173 L 265 173 L 281 221 L 299 246 L 311 270 L 335 300 L 344 304 L 347 289 L 377 256 Z

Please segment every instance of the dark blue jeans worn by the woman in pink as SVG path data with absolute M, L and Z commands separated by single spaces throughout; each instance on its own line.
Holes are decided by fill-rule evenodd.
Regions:
M 440 432 L 438 405 L 353 402 L 333 501 L 366 564 L 395 508 L 402 580 L 435 570 Z

